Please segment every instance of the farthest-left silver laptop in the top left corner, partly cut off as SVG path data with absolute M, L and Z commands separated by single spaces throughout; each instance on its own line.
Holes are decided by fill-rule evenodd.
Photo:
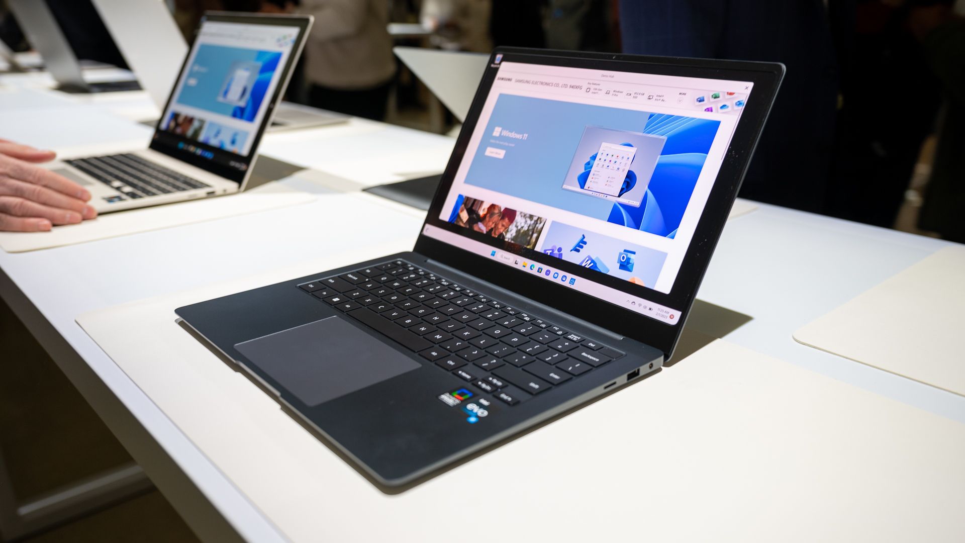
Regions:
M 140 89 L 134 79 L 88 81 L 81 63 L 70 47 L 67 36 L 47 3 L 42 0 L 8 0 L 27 40 L 43 57 L 43 65 L 57 81 L 58 90 L 69 93 L 100 93 Z M 99 63 L 98 63 L 99 64 Z M 99 66 L 106 66 L 99 64 Z

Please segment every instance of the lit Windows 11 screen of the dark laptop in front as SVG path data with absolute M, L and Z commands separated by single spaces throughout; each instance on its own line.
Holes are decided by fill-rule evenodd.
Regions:
M 424 234 L 676 325 L 685 307 L 653 293 L 674 288 L 753 83 L 501 57 Z

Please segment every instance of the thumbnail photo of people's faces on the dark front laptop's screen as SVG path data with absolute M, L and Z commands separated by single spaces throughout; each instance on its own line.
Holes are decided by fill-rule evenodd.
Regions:
M 500 241 L 535 249 L 546 219 L 459 194 L 449 222 Z

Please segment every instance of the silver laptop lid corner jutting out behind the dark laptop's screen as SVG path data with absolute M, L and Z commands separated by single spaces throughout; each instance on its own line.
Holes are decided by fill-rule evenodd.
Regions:
M 421 47 L 395 47 L 392 50 L 402 64 L 453 112 L 455 118 L 464 123 L 489 55 Z

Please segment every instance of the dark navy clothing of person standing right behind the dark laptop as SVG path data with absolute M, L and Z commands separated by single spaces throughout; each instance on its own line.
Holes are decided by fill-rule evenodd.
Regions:
M 783 62 L 785 80 L 740 195 L 823 210 L 838 73 L 821 0 L 620 0 L 620 36 L 625 53 Z

